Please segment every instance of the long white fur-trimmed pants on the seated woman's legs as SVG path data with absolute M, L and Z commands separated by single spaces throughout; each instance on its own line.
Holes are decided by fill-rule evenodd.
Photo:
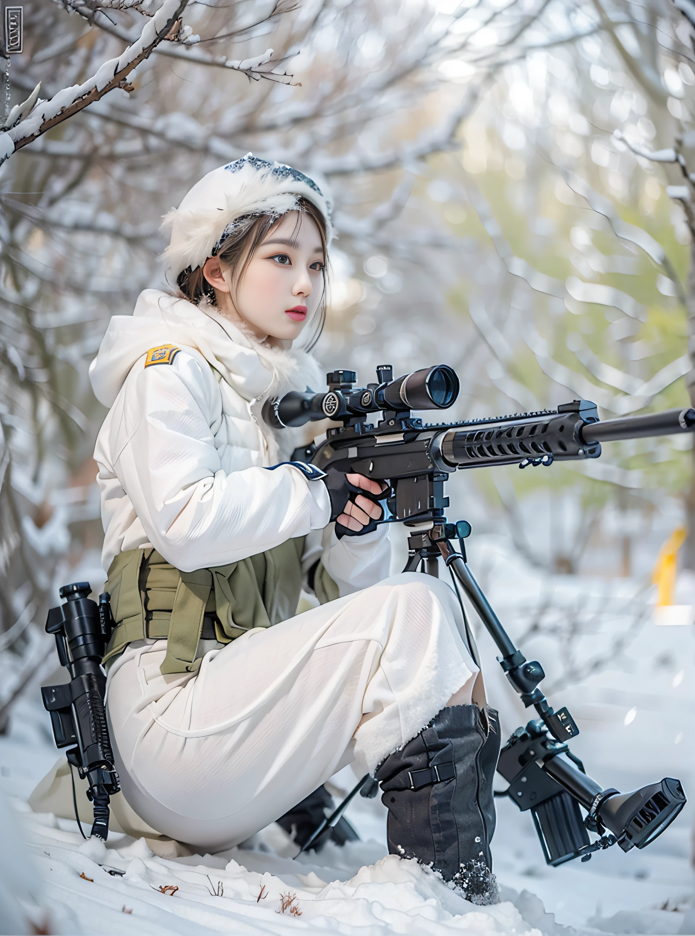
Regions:
M 244 634 L 197 675 L 162 676 L 165 641 L 131 644 L 107 689 L 126 800 L 199 849 L 244 841 L 348 763 L 372 772 L 472 684 L 462 633 L 451 588 L 408 573 Z

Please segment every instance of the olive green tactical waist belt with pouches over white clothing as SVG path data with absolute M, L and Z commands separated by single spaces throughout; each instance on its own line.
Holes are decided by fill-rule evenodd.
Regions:
M 238 563 L 181 572 L 154 549 L 129 549 L 109 569 L 116 627 L 104 654 L 109 665 L 132 640 L 167 638 L 163 674 L 192 673 L 204 619 L 214 622 L 214 637 L 227 644 L 254 627 L 271 627 L 293 617 L 302 590 L 304 537 L 249 556 Z M 314 587 L 321 604 L 338 589 L 319 563 Z

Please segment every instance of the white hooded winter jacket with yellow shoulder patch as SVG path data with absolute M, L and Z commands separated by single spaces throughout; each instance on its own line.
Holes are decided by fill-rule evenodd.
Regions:
M 146 367 L 147 352 L 165 344 L 180 349 L 171 363 Z M 111 318 L 89 376 L 110 407 L 95 448 L 106 571 L 128 549 L 154 546 L 192 571 L 307 535 L 304 567 L 322 548 L 341 595 L 388 576 L 387 525 L 338 540 L 322 482 L 291 465 L 267 470 L 299 440 L 265 425 L 262 404 L 290 388 L 318 390 L 309 355 L 266 348 L 209 305 L 146 289 L 132 316 Z

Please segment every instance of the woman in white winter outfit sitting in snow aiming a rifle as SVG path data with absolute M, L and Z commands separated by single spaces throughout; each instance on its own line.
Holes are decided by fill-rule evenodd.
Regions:
M 388 578 L 381 506 L 329 492 L 261 416 L 322 384 L 293 342 L 324 314 L 326 198 L 249 154 L 168 221 L 179 292 L 112 318 L 90 368 L 110 407 L 95 457 L 126 800 L 219 851 L 355 762 L 381 782 L 393 853 L 489 891 L 498 737 L 455 596 Z M 321 605 L 293 616 L 302 584 Z

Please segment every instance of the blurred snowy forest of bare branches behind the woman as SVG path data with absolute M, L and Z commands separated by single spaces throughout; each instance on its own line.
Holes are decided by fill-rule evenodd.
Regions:
M 39 80 L 49 102 L 81 85 L 163 6 L 26 0 L 10 104 Z M 105 413 L 89 362 L 110 316 L 161 285 L 160 218 L 211 168 L 252 151 L 330 187 L 327 367 L 367 382 L 377 363 L 449 363 L 454 418 L 577 397 L 611 418 L 686 405 L 695 382 L 690 0 L 170 8 L 181 22 L 115 90 L 39 136 L 25 124 L 21 152 L 17 124 L 0 168 L 0 730 L 54 665 L 42 625 L 56 585 L 103 581 L 92 450 Z M 7 126 L 31 121 L 29 106 Z M 660 543 L 695 520 L 692 461 L 688 436 L 666 437 L 451 479 L 451 518 L 549 582 L 634 582 L 600 607 L 558 612 L 552 589 L 541 596 L 526 633 L 557 636 L 561 682 L 605 665 L 643 621 Z M 580 663 L 575 638 L 600 614 L 628 623 Z

